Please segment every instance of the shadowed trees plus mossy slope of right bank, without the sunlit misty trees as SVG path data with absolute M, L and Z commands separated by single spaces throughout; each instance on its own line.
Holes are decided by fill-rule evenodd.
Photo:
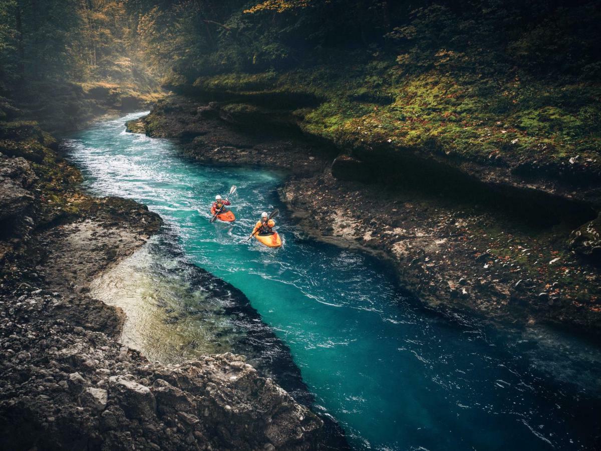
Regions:
M 320 105 L 297 104 L 302 126 L 344 147 L 541 158 L 557 176 L 600 165 L 597 1 L 138 0 L 130 11 L 169 88 L 263 104 L 311 94 Z

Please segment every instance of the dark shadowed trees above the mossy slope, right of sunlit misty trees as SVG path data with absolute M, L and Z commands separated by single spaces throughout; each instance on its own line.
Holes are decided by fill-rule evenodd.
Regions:
M 156 58 L 194 75 L 289 69 L 350 57 L 353 49 L 395 55 L 417 69 L 438 63 L 439 52 L 446 52 L 453 67 L 474 62 L 467 52 L 486 63 L 545 76 L 593 78 L 601 69 L 596 33 L 601 13 L 594 1 L 138 0 L 128 5 L 142 18 L 142 35 Z M 493 66 L 489 72 L 498 70 Z

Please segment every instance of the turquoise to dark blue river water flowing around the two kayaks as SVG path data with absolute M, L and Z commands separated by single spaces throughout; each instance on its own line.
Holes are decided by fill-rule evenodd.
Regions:
M 594 447 L 596 349 L 546 330 L 489 336 L 478 322 L 419 307 L 376 260 L 299 238 L 278 201 L 280 175 L 192 164 L 171 141 L 124 132 L 135 117 L 67 141 L 86 185 L 147 204 L 176 230 L 191 262 L 242 290 L 290 346 L 316 409 L 343 426 L 352 446 Z M 210 202 L 231 185 L 238 220 L 209 223 Z M 246 242 L 260 213 L 274 207 L 284 246 Z

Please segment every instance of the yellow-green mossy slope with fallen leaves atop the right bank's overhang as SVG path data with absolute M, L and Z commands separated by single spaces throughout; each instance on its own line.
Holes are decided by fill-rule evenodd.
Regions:
M 454 58 L 469 67 L 466 55 Z M 498 155 L 507 165 L 562 164 L 579 155 L 591 171 L 601 168 L 601 85 L 542 84 L 505 67 L 493 79 L 474 64 L 466 71 L 442 65 L 411 73 L 406 65 L 373 60 L 203 77 L 194 85 L 225 102 L 294 109 L 305 132 L 343 146 L 386 143 L 482 164 L 499 164 L 491 158 Z M 294 97 L 299 93 L 320 103 L 302 105 Z

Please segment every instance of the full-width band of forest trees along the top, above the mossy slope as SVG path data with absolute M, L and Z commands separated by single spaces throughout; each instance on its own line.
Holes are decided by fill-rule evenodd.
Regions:
M 412 70 L 601 75 L 595 1 L 1 0 L 0 79 L 189 78 L 387 55 Z M 356 51 L 361 51 L 357 53 Z M 484 64 L 483 64 L 484 63 Z M 146 67 L 145 69 L 148 69 Z

